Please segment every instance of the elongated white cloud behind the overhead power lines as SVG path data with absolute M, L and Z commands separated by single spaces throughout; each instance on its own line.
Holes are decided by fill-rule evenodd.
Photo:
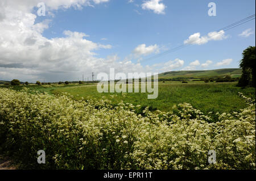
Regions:
M 184 40 L 184 44 L 197 44 L 202 45 L 208 43 L 210 40 L 223 40 L 228 36 L 225 36 L 225 32 L 223 30 L 219 32 L 209 32 L 207 36 L 201 36 L 199 32 L 190 35 L 187 40 Z

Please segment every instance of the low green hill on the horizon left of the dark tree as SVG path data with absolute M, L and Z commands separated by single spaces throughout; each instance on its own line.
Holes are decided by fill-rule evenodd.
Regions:
M 242 69 L 216 69 L 216 70 L 183 70 L 167 71 L 158 75 L 158 78 L 216 78 L 230 75 L 232 78 L 241 77 Z

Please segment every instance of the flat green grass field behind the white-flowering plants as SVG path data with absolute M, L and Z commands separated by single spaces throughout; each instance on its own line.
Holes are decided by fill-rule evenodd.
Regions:
M 117 105 L 122 100 L 124 103 L 141 105 L 141 112 L 144 107 L 150 107 L 150 110 L 170 111 L 174 105 L 180 103 L 189 103 L 196 109 L 208 112 L 233 112 L 246 107 L 238 92 L 255 99 L 255 88 L 247 87 L 241 89 L 236 87 L 237 82 L 226 83 L 204 83 L 189 82 L 177 83 L 166 82 L 159 83 L 159 94 L 156 99 L 147 99 L 148 93 L 99 93 L 96 84 L 86 85 L 46 85 L 46 86 L 27 86 L 30 90 L 47 92 L 48 94 L 62 94 L 67 92 L 75 99 L 96 98 L 109 99 L 113 105 Z M 14 89 L 22 89 L 23 86 L 16 86 Z M 113 96 L 115 95 L 115 96 Z

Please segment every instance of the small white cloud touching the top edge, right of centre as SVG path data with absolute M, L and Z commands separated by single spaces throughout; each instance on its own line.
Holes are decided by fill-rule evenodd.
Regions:
M 159 3 L 162 0 L 150 0 L 145 1 L 141 6 L 143 10 L 152 10 L 155 14 L 164 14 L 164 9 L 166 9 L 166 5 L 163 3 Z

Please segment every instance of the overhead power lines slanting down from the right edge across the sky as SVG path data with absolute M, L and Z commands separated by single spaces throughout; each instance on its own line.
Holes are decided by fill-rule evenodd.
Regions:
M 245 24 L 245 23 L 247 23 L 247 22 L 250 22 L 251 20 L 254 20 L 254 19 L 255 19 L 255 14 L 254 14 L 254 15 L 250 15 L 250 16 L 248 16 L 247 18 L 244 18 L 244 19 L 242 19 L 242 20 L 239 20 L 239 21 L 236 22 L 236 23 L 230 24 L 230 25 L 228 25 L 228 26 L 226 26 L 226 27 L 224 27 L 224 28 L 221 28 L 220 30 L 217 30 L 216 33 L 213 33 L 213 34 L 210 35 L 210 36 L 209 36 L 209 35 L 208 35 L 208 36 L 203 36 L 200 40 L 192 41 L 192 43 L 190 43 L 190 44 L 183 44 L 183 45 L 180 45 L 180 46 L 178 46 L 178 47 L 175 47 L 175 48 L 172 48 L 172 49 L 170 49 L 170 50 L 167 50 L 166 52 L 159 53 L 159 54 L 156 54 L 155 56 L 152 56 L 152 57 L 150 57 L 150 58 L 146 58 L 146 59 L 144 59 L 144 60 L 141 60 L 141 62 L 142 62 L 142 61 L 152 60 L 152 59 L 154 59 L 154 58 L 158 58 L 158 57 L 160 57 L 160 56 L 163 56 L 163 55 L 168 54 L 168 53 L 175 52 L 176 50 L 179 50 L 179 49 L 188 47 L 188 46 L 193 45 L 193 44 L 195 44 L 195 43 L 200 43 L 200 42 L 203 41 L 203 40 L 209 39 L 209 37 L 218 35 L 218 33 L 220 33 L 220 31 L 228 31 L 228 30 L 231 30 L 231 29 L 233 29 L 233 28 L 235 28 L 235 27 L 237 27 L 237 26 L 240 26 L 240 25 L 242 25 L 242 24 Z

